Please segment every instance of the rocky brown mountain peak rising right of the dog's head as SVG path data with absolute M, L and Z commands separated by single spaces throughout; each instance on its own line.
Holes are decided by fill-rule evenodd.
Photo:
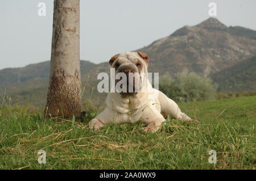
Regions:
M 256 54 L 256 31 L 226 27 L 215 18 L 184 26 L 139 49 L 150 57 L 151 71 L 175 75 L 187 69 L 208 76 Z

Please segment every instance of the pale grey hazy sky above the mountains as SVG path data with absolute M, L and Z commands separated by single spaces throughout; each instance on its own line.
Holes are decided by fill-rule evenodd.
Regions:
M 38 16 L 38 3 L 46 16 Z M 209 18 L 217 3 L 218 20 L 256 30 L 255 0 L 80 0 L 81 60 L 108 61 Z M 0 69 L 50 60 L 53 0 L 0 1 Z

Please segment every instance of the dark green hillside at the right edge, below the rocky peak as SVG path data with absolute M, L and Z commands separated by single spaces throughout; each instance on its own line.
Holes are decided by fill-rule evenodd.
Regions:
M 221 91 L 256 90 L 256 56 L 210 75 Z

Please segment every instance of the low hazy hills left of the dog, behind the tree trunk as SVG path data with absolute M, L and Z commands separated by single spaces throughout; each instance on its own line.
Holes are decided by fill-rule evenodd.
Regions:
M 93 70 L 93 67 L 96 67 L 94 70 L 100 69 L 100 65 L 93 64 L 90 61 L 81 61 L 82 86 L 86 85 L 83 100 L 90 98 L 92 87 L 97 87 L 97 77 L 93 76 L 97 71 L 93 73 L 90 73 L 90 71 Z M 6 94 L 11 95 L 13 103 L 31 103 L 36 107 L 43 107 L 46 104 L 49 70 L 50 61 L 31 64 L 24 68 L 0 70 L 0 95 L 3 95 L 6 89 Z M 87 81 L 88 75 L 90 75 L 89 81 Z M 5 85 L 3 82 L 5 82 Z M 95 96 L 93 99 L 97 103 L 104 100 L 105 95 L 97 91 L 94 91 L 93 95 Z

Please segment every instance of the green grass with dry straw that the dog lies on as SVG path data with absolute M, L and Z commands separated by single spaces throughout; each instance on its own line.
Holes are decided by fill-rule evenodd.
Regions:
M 255 169 L 256 96 L 180 104 L 201 121 L 168 119 L 159 132 L 141 123 L 109 124 L 99 132 L 83 121 L 46 120 L 2 107 L 1 169 Z M 46 164 L 38 151 L 46 151 Z M 209 150 L 217 163 L 208 162 Z

